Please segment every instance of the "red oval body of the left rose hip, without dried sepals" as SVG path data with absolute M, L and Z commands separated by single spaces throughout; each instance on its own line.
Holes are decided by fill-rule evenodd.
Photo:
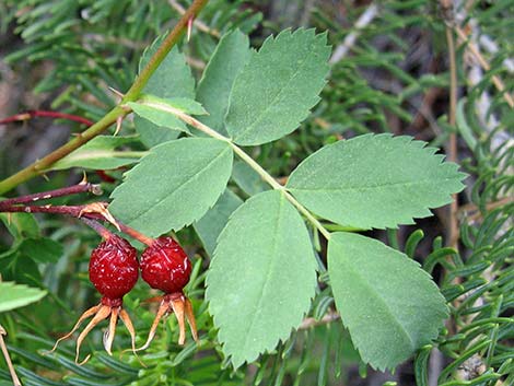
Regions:
M 138 277 L 138 252 L 125 238 L 112 235 L 91 253 L 90 280 L 104 295 L 102 303 L 120 304 Z

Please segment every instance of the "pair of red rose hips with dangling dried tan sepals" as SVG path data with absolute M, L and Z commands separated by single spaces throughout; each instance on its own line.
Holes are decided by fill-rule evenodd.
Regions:
M 151 302 L 160 302 L 160 307 L 150 329 L 147 342 L 143 347 L 136 349 L 136 334 L 127 312 L 122 308 L 122 297 L 136 285 L 139 269 L 143 280 L 150 286 L 161 290 L 164 295 L 152 297 Z M 174 312 L 179 326 L 178 343 L 184 344 L 186 339 L 185 320 L 187 318 L 191 328 L 192 337 L 198 341 L 195 315 L 190 301 L 184 295 L 183 289 L 189 281 L 191 265 L 184 249 L 171 237 L 159 237 L 153 239 L 141 255 L 141 262 L 137 258 L 137 250 L 129 242 L 114 234 L 108 234 L 91 253 L 90 280 L 96 290 L 103 295 L 101 304 L 84 312 L 72 330 L 61 337 L 55 344 L 71 337 L 80 327 L 81 323 L 93 316 L 77 339 L 78 361 L 80 347 L 86 335 L 102 320 L 110 316 L 108 329 L 104 335 L 104 348 L 112 354 L 112 346 L 118 317 L 127 327 L 131 341 L 132 351 L 144 350 L 155 336 L 155 330 L 161 318 Z M 90 355 L 81 362 L 85 363 Z

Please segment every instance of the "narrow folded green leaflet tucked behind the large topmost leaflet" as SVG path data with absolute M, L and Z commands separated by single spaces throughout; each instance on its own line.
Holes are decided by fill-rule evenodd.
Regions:
M 238 30 L 223 35 L 198 84 L 197 101 L 209 112 L 200 120 L 224 136 L 224 118 L 232 85 L 249 56 L 248 36 Z

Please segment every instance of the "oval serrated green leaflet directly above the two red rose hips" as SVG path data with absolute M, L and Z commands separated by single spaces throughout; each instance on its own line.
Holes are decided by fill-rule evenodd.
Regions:
M 232 148 L 211 138 L 184 138 L 153 148 L 126 174 L 109 210 L 149 236 L 199 220 L 223 192 Z

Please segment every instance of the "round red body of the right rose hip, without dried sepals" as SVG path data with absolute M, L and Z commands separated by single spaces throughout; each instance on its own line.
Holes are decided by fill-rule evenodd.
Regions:
M 191 264 L 172 237 L 154 239 L 141 255 L 141 277 L 153 289 L 165 293 L 182 292 L 190 274 Z

